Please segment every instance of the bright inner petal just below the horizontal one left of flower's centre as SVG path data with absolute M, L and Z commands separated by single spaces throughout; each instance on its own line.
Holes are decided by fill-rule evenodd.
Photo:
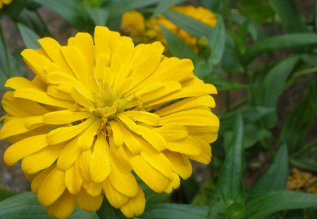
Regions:
M 49 134 L 47 134 L 47 142 L 49 142 L 49 144 L 66 142 L 67 140 L 72 139 L 81 132 L 87 130 L 87 128 L 92 125 L 92 123 L 94 123 L 94 120 L 94 118 L 89 118 L 79 125 L 56 128 L 55 130 L 52 130 L 51 132 L 49 132 Z

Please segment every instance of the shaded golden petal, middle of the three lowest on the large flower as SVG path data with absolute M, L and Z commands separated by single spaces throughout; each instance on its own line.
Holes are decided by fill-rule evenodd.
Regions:
M 99 194 L 98 196 L 91 196 L 88 194 L 85 189 L 80 190 L 80 192 L 76 196 L 77 203 L 84 211 L 97 211 L 104 199 L 103 194 Z

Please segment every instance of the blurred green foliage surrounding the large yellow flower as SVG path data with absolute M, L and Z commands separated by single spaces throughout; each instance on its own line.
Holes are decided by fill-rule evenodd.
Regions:
M 32 49 L 39 48 L 40 37 L 58 38 L 41 18 L 41 8 L 85 32 L 95 25 L 119 30 L 121 15 L 130 10 L 163 14 L 207 39 L 206 52 L 197 55 L 162 27 L 170 54 L 191 58 L 194 73 L 218 87 L 220 131 L 213 161 L 170 196 L 143 185 L 147 207 L 139 218 L 317 218 L 317 195 L 305 192 L 316 185 L 286 190 L 292 168 L 317 173 L 317 16 L 315 7 L 299 13 L 304 2 L 316 6 L 294 0 L 13 0 L 0 16 L 14 21 L 25 47 Z M 216 27 L 168 11 L 176 4 L 209 8 L 218 14 Z M 5 31 L 0 29 L 2 91 L 9 77 L 27 77 L 19 55 L 23 48 L 9 50 Z M 204 184 L 197 180 L 201 175 Z M 32 193 L 0 189 L 1 199 L 0 218 L 49 218 Z M 98 217 L 124 218 L 106 202 L 97 213 L 77 209 L 71 216 Z

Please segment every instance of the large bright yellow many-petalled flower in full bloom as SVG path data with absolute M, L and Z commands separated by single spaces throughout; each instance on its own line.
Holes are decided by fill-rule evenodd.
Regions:
M 1 139 L 13 144 L 7 165 L 22 159 L 31 188 L 49 215 L 78 205 L 97 211 L 104 199 L 127 217 L 144 211 L 135 176 L 155 192 L 172 192 L 192 174 L 190 160 L 211 161 L 219 120 L 216 94 L 192 73 L 189 59 L 166 58 L 159 42 L 134 46 L 106 27 L 22 56 L 32 81 L 13 77 L 4 94 Z

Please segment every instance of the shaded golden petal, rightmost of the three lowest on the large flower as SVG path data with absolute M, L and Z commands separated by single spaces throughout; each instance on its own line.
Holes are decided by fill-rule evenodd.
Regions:
M 139 185 L 138 185 L 139 186 Z M 120 208 L 120 211 L 127 218 L 132 218 L 133 216 L 142 215 L 145 208 L 145 196 L 142 188 L 139 186 L 137 195 L 130 198 L 128 203 Z

